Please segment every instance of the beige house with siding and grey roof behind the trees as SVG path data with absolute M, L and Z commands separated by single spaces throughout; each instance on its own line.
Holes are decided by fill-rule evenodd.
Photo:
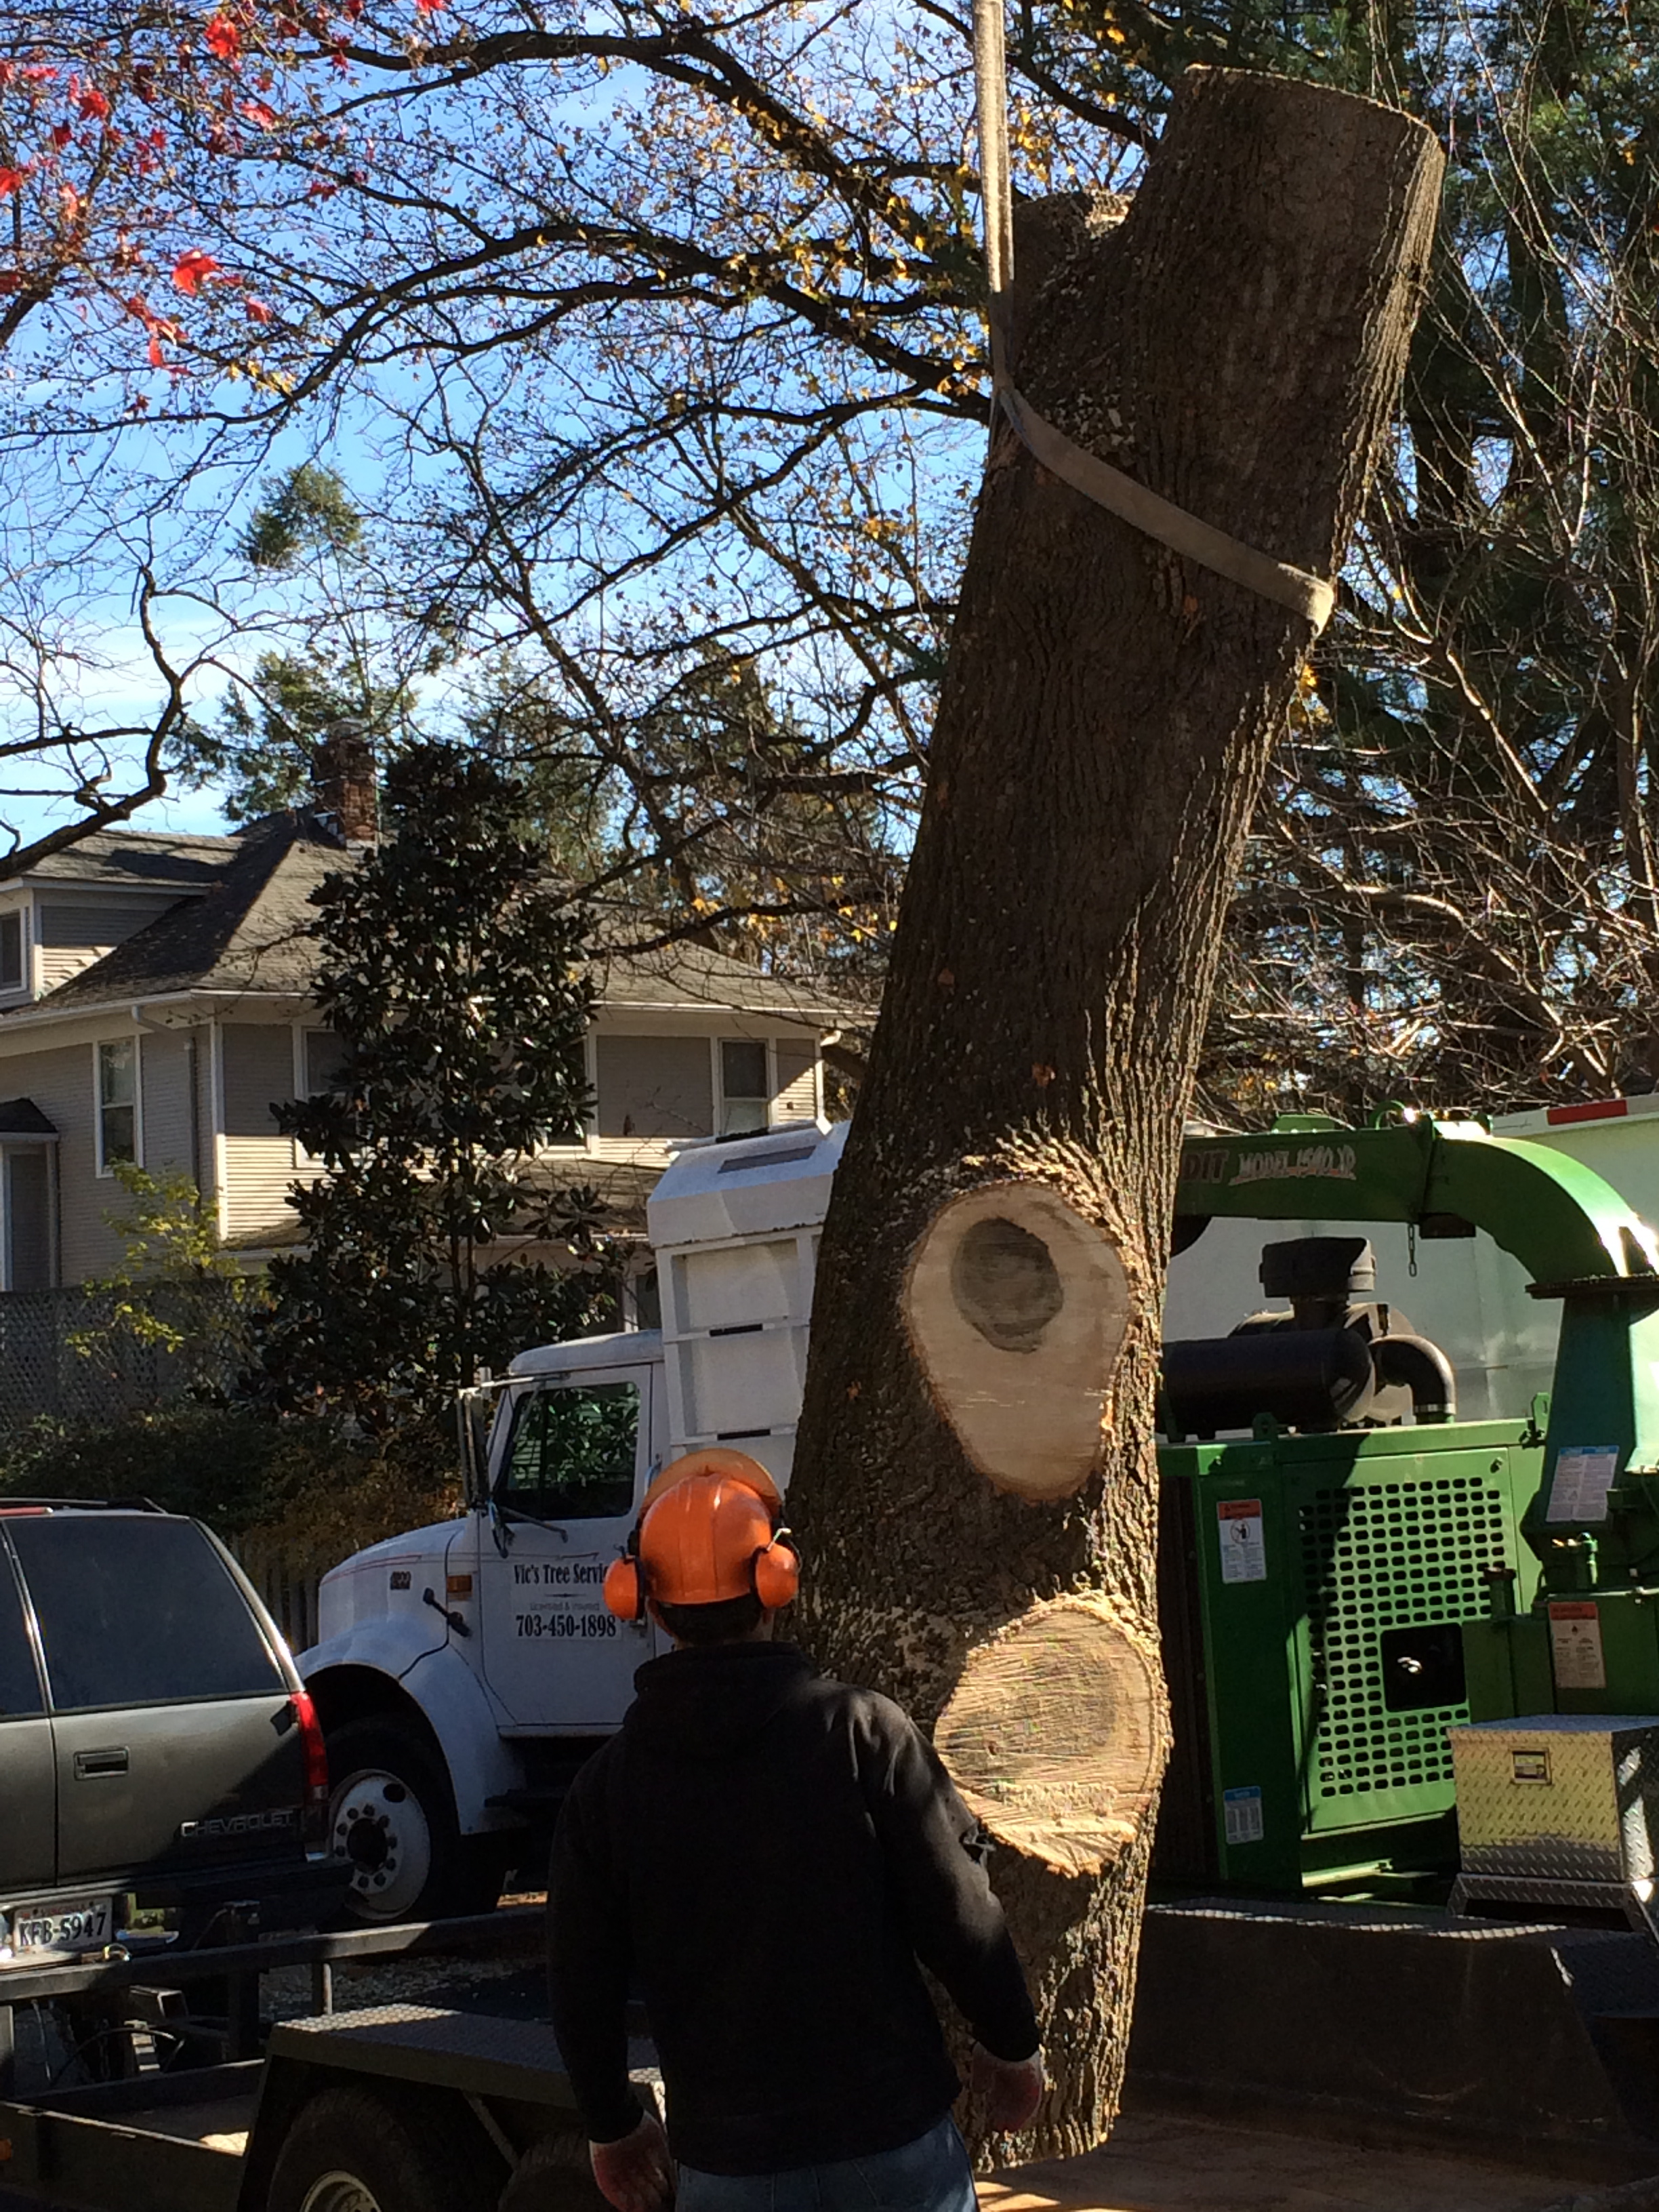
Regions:
M 288 1190 L 314 1168 L 272 1108 L 338 1064 L 310 894 L 352 849 L 296 810 L 237 836 L 104 832 L 0 880 L 0 1290 L 115 1263 L 122 1159 L 184 1168 L 250 1263 L 296 1239 Z M 619 1228 L 644 1228 L 677 1139 L 823 1110 L 836 1011 L 810 993 L 686 945 L 611 945 L 595 982 L 593 1110 L 546 1170 Z

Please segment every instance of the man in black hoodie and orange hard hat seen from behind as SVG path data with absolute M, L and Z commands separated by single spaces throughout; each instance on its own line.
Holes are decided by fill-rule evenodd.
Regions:
M 779 1517 L 745 1453 L 690 1453 L 606 1579 L 679 1648 L 639 1668 L 553 1840 L 553 2024 L 593 2174 L 617 2212 L 973 2212 L 920 1966 L 973 2028 L 993 2128 L 1042 2095 L 1031 1997 L 922 1734 L 772 1641 L 799 1575 Z M 635 1982 L 668 2137 L 628 2084 Z

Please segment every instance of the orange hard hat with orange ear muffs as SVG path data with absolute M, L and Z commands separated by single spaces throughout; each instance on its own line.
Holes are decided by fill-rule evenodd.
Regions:
M 637 1615 L 646 1595 L 664 1606 L 719 1606 L 754 1590 L 765 1606 L 787 1604 L 799 1566 L 774 1542 L 781 1511 L 783 1493 L 745 1451 L 688 1451 L 646 1491 L 637 1564 L 617 1559 L 606 1604 L 624 1617 Z

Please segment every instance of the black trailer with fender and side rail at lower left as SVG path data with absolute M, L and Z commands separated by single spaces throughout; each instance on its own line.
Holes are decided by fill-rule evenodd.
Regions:
M 418 2004 L 334 2011 L 341 1964 L 529 1958 L 540 1947 L 540 1907 L 513 1907 L 476 1920 L 7 1973 L 4 2011 L 215 1980 L 232 1993 L 232 2046 L 246 2037 L 248 2048 L 217 2066 L 0 2099 L 0 2194 L 53 2212 L 602 2208 L 544 2022 Z M 310 1966 L 314 2013 L 272 2026 L 254 2057 L 259 1982 L 283 1966 Z M 639 2095 L 657 2104 L 644 2039 L 630 2066 Z

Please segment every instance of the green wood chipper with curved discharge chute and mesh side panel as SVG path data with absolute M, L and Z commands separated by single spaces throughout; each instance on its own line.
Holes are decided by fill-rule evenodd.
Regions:
M 1287 1307 L 1164 1347 L 1177 1750 L 1155 1869 L 1444 1880 L 1471 1719 L 1659 1712 L 1652 1232 L 1577 1161 L 1427 1117 L 1190 1137 L 1177 1250 L 1214 1217 L 1347 1234 L 1267 1243 L 1261 1285 Z M 1562 1298 L 1553 1394 L 1460 1422 L 1451 1363 L 1376 1296 L 1354 1234 L 1371 1221 L 1486 1230 Z M 1599 1672 L 1562 1606 L 1597 1613 Z

